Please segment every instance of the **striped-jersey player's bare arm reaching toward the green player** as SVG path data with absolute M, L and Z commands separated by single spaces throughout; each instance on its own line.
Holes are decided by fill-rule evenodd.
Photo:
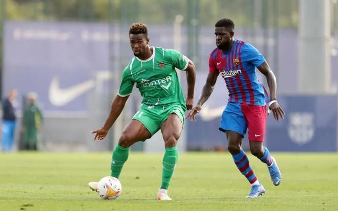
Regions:
M 190 118 L 191 122 L 195 122 L 195 115 L 200 112 L 201 106 L 205 101 L 207 101 L 210 95 L 213 93 L 218 74 L 210 73 L 206 78 L 206 82 L 203 86 L 202 93 L 200 99 L 197 102 L 197 105 L 185 116 L 185 119 Z

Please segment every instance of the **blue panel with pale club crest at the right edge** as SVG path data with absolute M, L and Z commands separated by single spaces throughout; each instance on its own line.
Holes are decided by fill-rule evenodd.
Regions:
M 337 96 L 279 96 L 286 113 L 280 122 L 268 118 L 266 144 L 272 151 L 337 151 Z

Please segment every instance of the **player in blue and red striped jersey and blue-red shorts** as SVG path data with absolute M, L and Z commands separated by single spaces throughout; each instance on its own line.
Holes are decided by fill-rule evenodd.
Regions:
M 217 48 L 209 57 L 209 73 L 197 105 L 186 118 L 195 121 L 195 115 L 213 92 L 218 75 L 221 75 L 229 92 L 229 100 L 223 111 L 219 130 L 225 132 L 228 150 L 240 172 L 251 184 L 247 198 L 257 198 L 265 193 L 251 169 L 242 149 L 242 139 L 249 129 L 250 151 L 266 163 L 272 182 L 279 185 L 282 179 L 276 160 L 263 146 L 267 108 L 274 119 L 284 119 L 284 111 L 277 102 L 276 77 L 259 51 L 251 44 L 234 39 L 234 22 L 228 18 L 215 25 Z M 270 101 L 263 84 L 258 80 L 256 67 L 266 77 L 270 89 Z M 268 106 L 266 106 L 266 104 Z

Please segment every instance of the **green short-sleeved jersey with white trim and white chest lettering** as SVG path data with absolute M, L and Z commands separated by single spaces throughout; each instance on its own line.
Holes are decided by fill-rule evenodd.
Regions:
M 129 96 L 136 83 L 143 104 L 163 106 L 175 103 L 186 108 L 175 67 L 185 70 L 189 59 L 176 50 L 151 48 L 153 54 L 149 59 L 134 57 L 124 68 L 118 95 Z

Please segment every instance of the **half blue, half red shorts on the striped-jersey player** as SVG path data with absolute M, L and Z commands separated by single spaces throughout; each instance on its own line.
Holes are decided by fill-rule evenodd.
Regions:
M 235 131 L 244 137 L 249 128 L 249 140 L 260 142 L 265 136 L 266 116 L 266 106 L 228 102 L 218 129 Z

